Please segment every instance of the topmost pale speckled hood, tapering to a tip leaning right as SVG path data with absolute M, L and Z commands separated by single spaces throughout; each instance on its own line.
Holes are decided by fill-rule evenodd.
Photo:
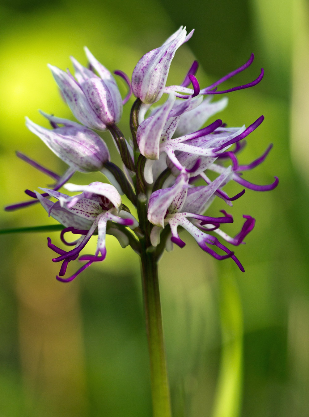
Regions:
M 145 104 L 156 103 L 163 95 L 168 71 L 176 50 L 193 35 L 187 35 L 186 27 L 181 26 L 159 48 L 143 55 L 132 74 L 132 89 L 137 98 Z

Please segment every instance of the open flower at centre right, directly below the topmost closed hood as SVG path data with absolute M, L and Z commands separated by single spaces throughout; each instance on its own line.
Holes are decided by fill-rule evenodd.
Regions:
M 222 121 L 218 119 L 198 131 L 173 138 L 181 117 L 186 117 L 187 112 L 195 114 L 203 105 L 201 100 L 202 98 L 190 98 L 174 106 L 175 96 L 171 94 L 153 116 L 146 118 L 138 126 L 137 142 L 141 153 L 147 158 L 144 175 L 148 183 L 153 182 L 153 161 L 157 160 L 161 153 L 168 156 L 168 166 L 174 175 L 178 175 L 184 168 L 192 170 L 195 166 L 191 175 L 196 176 L 209 168 L 218 157 L 219 151 L 224 152 L 233 143 L 243 140 L 264 120 L 264 116 L 261 116 L 248 128 L 224 128 L 221 127 Z M 216 108 L 220 108 L 220 105 Z

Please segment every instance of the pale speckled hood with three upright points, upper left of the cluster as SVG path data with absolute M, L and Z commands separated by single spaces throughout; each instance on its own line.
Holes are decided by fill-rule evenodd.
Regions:
M 69 71 L 66 73 L 50 64 L 48 67 L 77 120 L 89 128 L 104 131 L 107 126 L 120 121 L 122 98 L 111 73 L 95 59 L 88 48 L 85 48 L 85 53 L 91 68 L 99 76 L 80 65 L 73 57 L 71 60 L 77 81 Z

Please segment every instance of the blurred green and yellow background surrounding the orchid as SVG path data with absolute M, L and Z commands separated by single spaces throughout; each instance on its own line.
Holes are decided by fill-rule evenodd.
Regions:
M 160 261 L 174 417 L 309 415 L 308 18 L 304 0 L 0 2 L 3 206 L 25 199 L 25 188 L 48 183 L 15 150 L 65 169 L 24 125 L 24 116 L 45 123 L 39 108 L 72 117 L 47 63 L 71 68 L 73 55 L 86 64 L 87 45 L 110 70 L 131 75 L 144 53 L 186 25 L 195 33 L 177 51 L 168 84 L 182 81 L 194 57 L 202 86 L 251 52 L 254 64 L 227 87 L 251 81 L 264 66 L 264 80 L 229 94 L 220 115 L 229 126 L 248 126 L 264 114 L 240 161 L 251 162 L 274 143 L 266 162 L 246 178 L 261 184 L 280 178 L 275 191 L 248 190 L 230 210 L 230 234 L 241 227 L 242 214 L 256 218 L 246 245 L 236 248 L 246 273 L 229 259 L 214 261 L 189 236 L 184 249 Z M 121 80 L 119 88 L 124 94 Z M 127 136 L 130 103 L 133 98 L 120 124 Z M 113 150 L 109 134 L 103 138 Z M 73 182 L 97 181 L 98 175 L 85 180 L 75 174 Z M 227 191 L 241 187 L 229 184 Z M 221 208 L 222 200 L 211 213 Z M 38 205 L 2 211 L 0 221 L 1 228 L 55 223 Z M 58 236 L 50 234 L 56 244 Z M 151 416 L 136 254 L 108 236 L 106 260 L 62 284 L 45 233 L 0 239 L 0 416 Z

